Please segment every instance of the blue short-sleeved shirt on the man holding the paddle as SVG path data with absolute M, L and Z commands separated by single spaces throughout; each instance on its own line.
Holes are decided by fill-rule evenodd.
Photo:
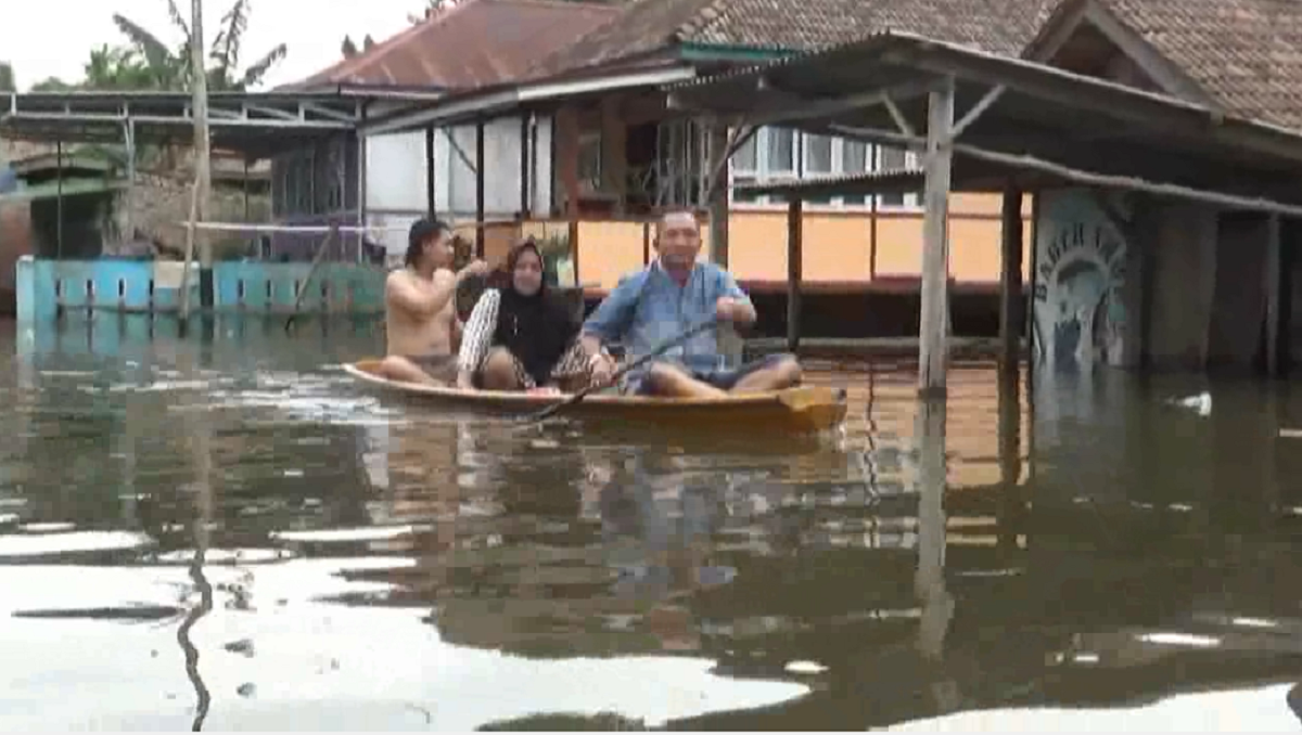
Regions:
M 715 317 L 715 304 L 723 297 L 750 303 L 732 274 L 712 263 L 698 263 L 687 282 L 680 286 L 660 263 L 620 278 L 620 284 L 583 324 L 585 334 L 603 342 L 621 342 L 628 360 L 650 353 L 665 340 Z M 663 356 L 699 373 L 733 366 L 724 364 L 715 330 L 707 329 Z

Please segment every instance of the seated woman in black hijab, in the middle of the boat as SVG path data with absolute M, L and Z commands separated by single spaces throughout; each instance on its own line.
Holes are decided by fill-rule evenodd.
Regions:
M 543 254 L 534 238 L 506 256 L 503 284 L 479 297 L 461 338 L 462 389 L 557 393 L 587 384 L 579 323 L 547 293 Z

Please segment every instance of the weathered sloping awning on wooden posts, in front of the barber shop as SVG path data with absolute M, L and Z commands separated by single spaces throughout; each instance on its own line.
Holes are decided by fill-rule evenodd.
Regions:
M 673 108 L 921 147 L 927 94 L 954 81 L 956 138 L 970 147 L 1112 177 L 1144 177 L 1302 203 L 1302 133 L 1200 104 L 913 34 L 883 33 L 664 87 Z M 954 146 L 956 183 L 1000 190 L 1017 174 Z M 963 170 L 967 168 L 969 170 Z

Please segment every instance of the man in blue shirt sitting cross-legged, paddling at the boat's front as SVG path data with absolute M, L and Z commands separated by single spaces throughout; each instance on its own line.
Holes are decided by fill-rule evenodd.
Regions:
M 595 382 L 609 381 L 616 369 L 604 343 L 622 342 L 631 362 L 710 319 L 742 327 L 754 324 L 755 307 L 746 293 L 723 268 L 697 263 L 699 252 L 700 226 L 695 215 L 665 213 L 656 230 L 656 261 L 621 278 L 583 324 L 583 347 Z M 799 380 L 801 367 L 794 355 L 768 355 L 740 367 L 724 364 L 715 333 L 706 330 L 665 353 L 650 368 L 630 373 L 626 389 L 710 398 L 780 390 Z

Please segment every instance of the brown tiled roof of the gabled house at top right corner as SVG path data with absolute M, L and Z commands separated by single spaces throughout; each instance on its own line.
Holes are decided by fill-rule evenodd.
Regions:
M 1298 0 L 1101 0 L 1228 112 L 1302 129 Z

